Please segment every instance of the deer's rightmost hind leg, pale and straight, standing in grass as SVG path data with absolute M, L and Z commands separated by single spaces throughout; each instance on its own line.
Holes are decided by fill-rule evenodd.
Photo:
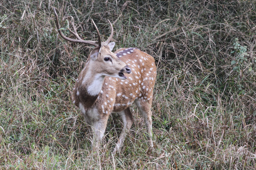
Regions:
M 143 117 L 144 123 L 147 128 L 148 132 L 148 141 L 150 143 L 150 146 L 153 148 L 153 141 L 152 141 L 152 112 L 151 112 L 151 101 L 143 101 L 143 100 L 135 100 L 135 105 L 137 106 L 140 115 Z

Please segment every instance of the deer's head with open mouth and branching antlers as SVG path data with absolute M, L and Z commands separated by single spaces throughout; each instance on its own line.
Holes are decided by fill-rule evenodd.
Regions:
M 128 73 L 128 74 L 131 73 L 131 68 L 129 68 L 122 60 L 120 60 L 116 56 L 115 53 L 112 52 L 112 50 L 115 46 L 115 43 L 114 42 L 109 43 L 114 34 L 113 26 L 109 20 L 108 20 L 108 22 L 111 27 L 111 33 L 110 33 L 110 36 L 108 37 L 107 41 L 101 42 L 100 32 L 93 20 L 92 20 L 92 23 L 97 31 L 97 34 L 98 34 L 98 41 L 88 41 L 88 40 L 83 40 L 80 38 L 80 36 L 76 32 L 76 27 L 74 24 L 73 17 L 69 16 L 72 19 L 71 24 L 73 26 L 74 32 L 71 31 L 69 28 L 68 28 L 68 30 L 76 37 L 76 39 L 71 39 L 62 34 L 61 29 L 60 29 L 59 20 L 58 20 L 58 14 L 55 11 L 54 7 L 53 7 L 53 11 L 54 11 L 54 14 L 56 17 L 56 25 L 57 25 L 58 32 L 63 39 L 66 39 L 70 42 L 84 43 L 84 44 L 89 44 L 89 45 L 95 46 L 95 48 L 91 51 L 91 53 L 88 57 L 88 60 L 89 60 L 90 67 L 94 68 L 94 71 L 96 74 L 110 76 L 110 77 L 116 77 L 116 78 L 120 78 L 120 79 L 127 78 L 124 75 L 124 73 Z

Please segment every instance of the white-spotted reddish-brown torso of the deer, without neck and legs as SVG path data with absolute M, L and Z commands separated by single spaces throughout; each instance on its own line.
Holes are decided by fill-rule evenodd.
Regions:
M 156 81 L 154 58 L 137 48 L 121 48 L 115 53 L 132 69 L 132 73 L 125 74 L 125 80 L 106 76 L 98 98 L 102 112 L 122 111 L 134 100 L 143 100 L 151 105 Z

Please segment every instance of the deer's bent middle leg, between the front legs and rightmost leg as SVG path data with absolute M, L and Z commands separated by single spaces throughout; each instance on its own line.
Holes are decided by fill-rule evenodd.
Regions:
M 117 114 L 121 117 L 123 124 L 124 124 L 124 128 L 118 138 L 118 141 L 116 143 L 116 146 L 113 150 L 113 153 L 116 153 L 116 151 L 118 151 L 119 149 L 121 149 L 123 143 L 124 143 L 124 139 L 126 136 L 126 131 L 129 130 L 132 127 L 132 122 L 133 122 L 133 117 L 132 117 L 132 113 L 130 108 L 127 108 L 123 111 L 117 112 Z

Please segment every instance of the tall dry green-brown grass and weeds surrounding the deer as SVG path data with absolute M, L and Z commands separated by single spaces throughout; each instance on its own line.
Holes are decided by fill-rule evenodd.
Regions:
M 91 152 L 71 91 L 92 47 L 61 39 L 51 6 L 154 56 L 153 151 L 133 107 L 121 152 L 115 114 Z M 0 1 L 0 169 L 256 169 L 255 32 L 256 1 Z

